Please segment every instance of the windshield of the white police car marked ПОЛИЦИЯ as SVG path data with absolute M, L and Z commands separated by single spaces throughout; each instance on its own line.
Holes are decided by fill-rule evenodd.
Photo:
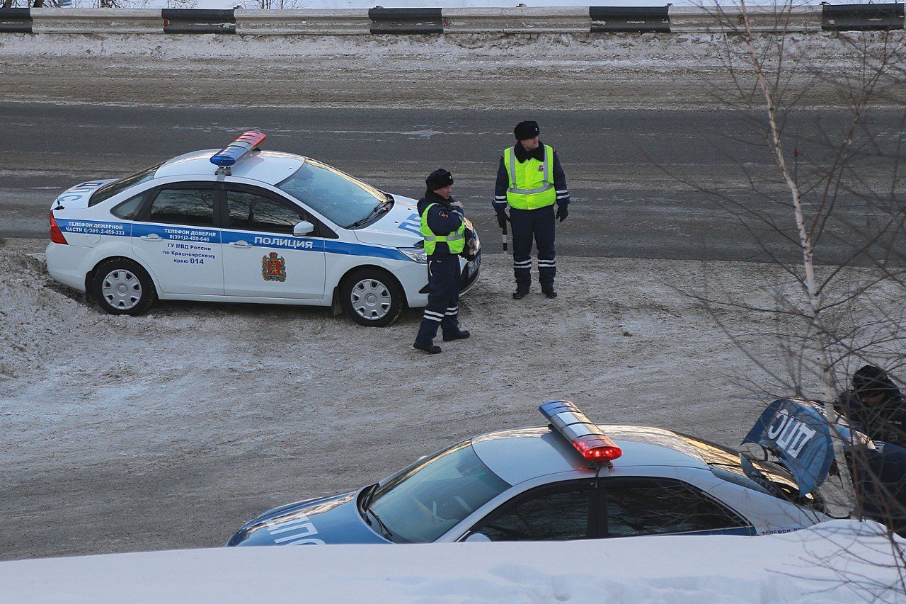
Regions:
M 277 187 L 346 229 L 369 217 L 388 200 L 386 194 L 371 185 L 309 159 Z

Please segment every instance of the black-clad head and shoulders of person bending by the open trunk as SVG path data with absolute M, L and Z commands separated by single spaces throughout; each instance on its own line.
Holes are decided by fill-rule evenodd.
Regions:
M 872 441 L 906 446 L 906 397 L 881 367 L 853 374 L 853 388 L 834 401 L 834 410 Z

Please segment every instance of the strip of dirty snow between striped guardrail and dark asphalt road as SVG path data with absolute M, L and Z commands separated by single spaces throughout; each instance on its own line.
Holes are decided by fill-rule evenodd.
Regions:
M 903 32 L 893 34 L 901 44 Z M 791 34 L 789 94 L 848 106 L 855 47 L 877 34 Z M 0 35 L 6 101 L 188 106 L 608 109 L 726 106 L 723 35 Z M 732 52 L 745 50 L 730 38 Z M 795 62 L 789 62 L 793 64 Z M 814 72 L 811 70 L 814 69 Z M 814 73 L 818 73 L 817 76 Z M 525 74 L 524 76 L 518 74 Z M 742 76 L 745 80 L 745 75 Z M 743 82 L 744 87 L 747 82 Z M 893 88 L 895 104 L 903 90 Z M 883 95 L 879 95 L 883 98 Z

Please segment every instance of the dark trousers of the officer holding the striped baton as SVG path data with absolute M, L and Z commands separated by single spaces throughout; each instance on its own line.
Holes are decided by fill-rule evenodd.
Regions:
M 532 241 L 538 248 L 538 281 L 541 287 L 554 287 L 557 274 L 554 251 L 554 206 L 539 209 L 510 208 L 513 230 L 513 273 L 516 286 L 527 289 L 532 284 Z

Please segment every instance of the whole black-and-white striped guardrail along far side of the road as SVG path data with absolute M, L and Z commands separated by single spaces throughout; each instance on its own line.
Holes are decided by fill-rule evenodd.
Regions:
M 719 14 L 715 11 L 719 10 Z M 903 4 L 748 9 L 756 32 L 903 29 Z M 0 34 L 622 34 L 732 33 L 737 7 L 557 6 L 302 10 L 5 8 Z

